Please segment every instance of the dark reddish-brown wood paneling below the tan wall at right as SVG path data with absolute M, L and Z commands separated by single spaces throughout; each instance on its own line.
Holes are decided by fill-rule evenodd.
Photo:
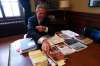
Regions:
M 70 11 L 70 26 L 78 32 L 87 26 L 100 29 L 100 14 Z

